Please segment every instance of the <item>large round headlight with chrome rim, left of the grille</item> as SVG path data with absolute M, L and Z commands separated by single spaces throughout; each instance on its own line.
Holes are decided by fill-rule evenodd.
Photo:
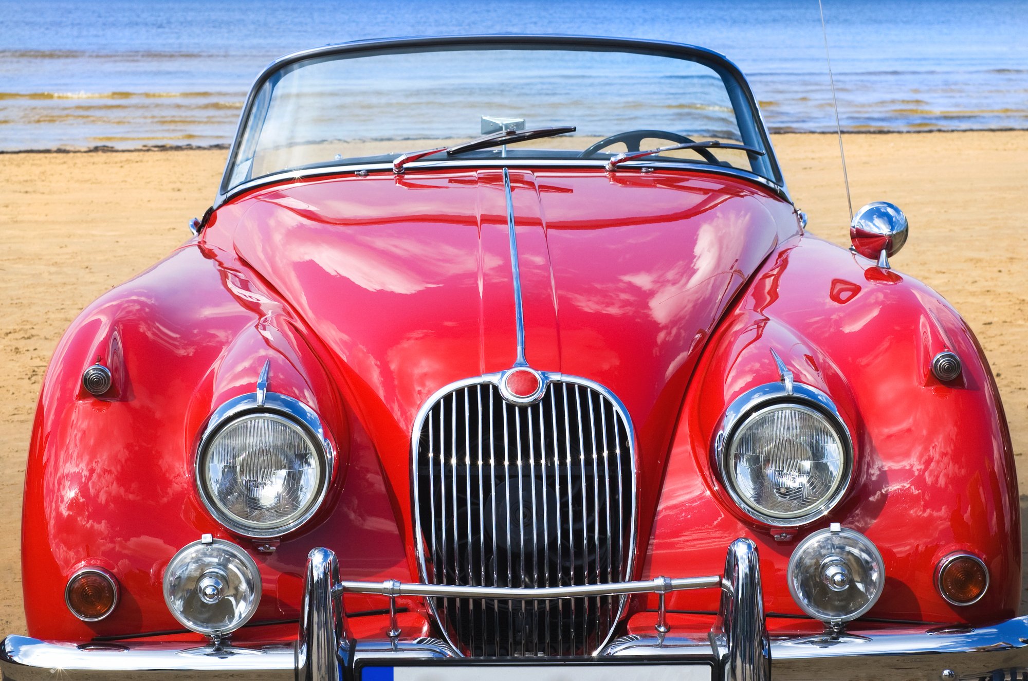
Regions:
M 321 424 L 283 395 L 294 419 L 257 410 L 212 419 L 196 462 L 200 497 L 228 529 L 271 537 L 302 525 L 318 509 L 331 473 L 331 451 Z

